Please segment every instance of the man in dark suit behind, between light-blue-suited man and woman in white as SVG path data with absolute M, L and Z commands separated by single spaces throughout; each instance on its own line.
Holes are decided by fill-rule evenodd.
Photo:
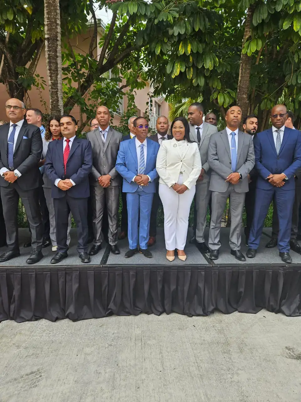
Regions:
M 157 133 L 150 136 L 150 139 L 157 142 L 160 146 L 163 141 L 167 139 L 173 139 L 172 135 L 167 134 L 169 129 L 169 122 L 167 117 L 159 116 L 156 123 Z M 148 247 L 151 247 L 156 242 L 157 236 L 157 213 L 161 199 L 159 197 L 159 181 L 156 183 L 156 192 L 153 198 L 152 211 L 150 213 L 150 226 L 149 226 L 149 239 Z M 161 203 L 162 204 L 162 203 Z

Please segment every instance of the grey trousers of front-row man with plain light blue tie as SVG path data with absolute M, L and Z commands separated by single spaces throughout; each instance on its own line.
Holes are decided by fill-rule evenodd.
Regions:
M 246 193 L 236 193 L 234 185 L 229 185 L 227 191 L 218 193 L 212 191 L 212 213 L 209 230 L 209 248 L 218 250 L 220 244 L 220 227 L 222 216 L 226 207 L 227 198 L 230 195 L 231 226 L 229 244 L 231 250 L 240 250 L 242 230 L 242 210 Z

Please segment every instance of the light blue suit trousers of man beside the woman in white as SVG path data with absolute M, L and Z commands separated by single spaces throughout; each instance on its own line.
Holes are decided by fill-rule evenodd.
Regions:
M 128 244 L 131 250 L 138 245 L 142 250 L 147 248 L 153 196 L 154 193 L 146 193 L 141 187 L 138 187 L 134 193 L 126 193 Z

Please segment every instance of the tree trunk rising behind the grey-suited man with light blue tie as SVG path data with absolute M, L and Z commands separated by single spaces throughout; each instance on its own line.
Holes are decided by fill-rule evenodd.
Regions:
M 246 23 L 244 28 L 244 39 L 242 40 L 242 48 L 251 36 L 251 23 L 253 18 L 254 5 L 247 10 Z M 252 57 L 246 53 L 241 53 L 240 68 L 237 88 L 237 105 L 242 109 L 242 119 L 248 115 L 249 109 L 249 87 Z

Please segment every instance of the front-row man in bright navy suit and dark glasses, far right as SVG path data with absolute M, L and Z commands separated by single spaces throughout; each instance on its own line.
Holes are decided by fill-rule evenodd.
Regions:
M 279 255 L 284 263 L 291 264 L 289 242 L 295 198 L 294 174 L 301 167 L 301 133 L 285 127 L 287 109 L 284 105 L 274 106 L 270 119 L 273 126 L 254 138 L 255 166 L 259 176 L 247 257 L 256 255 L 264 219 L 275 196 L 279 216 Z

